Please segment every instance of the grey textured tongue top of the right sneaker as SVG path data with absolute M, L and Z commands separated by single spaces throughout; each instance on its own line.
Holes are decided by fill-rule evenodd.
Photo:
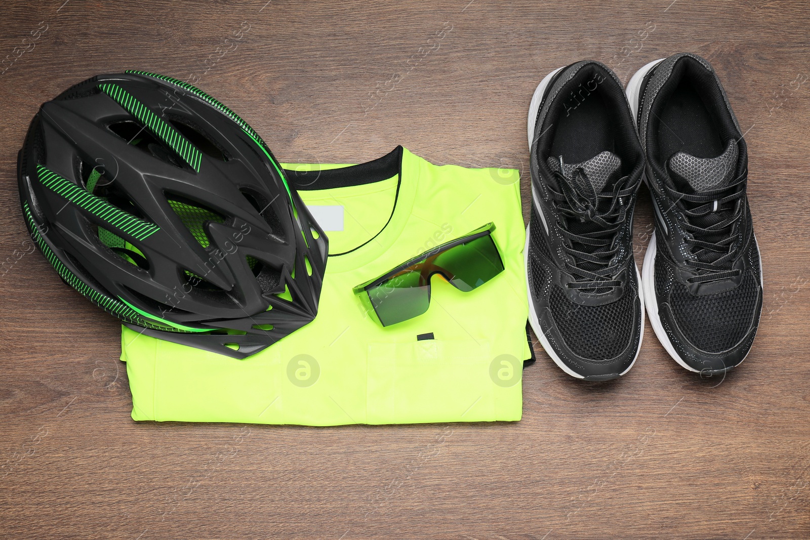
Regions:
M 726 151 L 714 158 L 696 158 L 678 152 L 669 159 L 669 171 L 676 187 L 689 186 L 696 192 L 710 191 L 728 185 L 735 177 L 739 150 L 737 142 L 729 139 Z M 678 185 L 680 183 L 680 185 Z

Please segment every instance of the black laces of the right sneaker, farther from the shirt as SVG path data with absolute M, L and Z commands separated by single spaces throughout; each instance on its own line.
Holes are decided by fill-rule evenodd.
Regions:
M 690 233 L 684 242 L 697 248 L 692 249 L 694 258 L 685 262 L 697 270 L 703 270 L 700 275 L 689 278 L 687 280 L 689 283 L 706 283 L 740 275 L 740 270 L 731 268 L 729 263 L 735 257 L 734 241 L 740 216 L 743 215 L 747 180 L 748 172 L 744 172 L 734 183 L 702 192 L 699 195 L 681 193 L 664 184 L 667 194 L 674 198 L 676 205 L 683 210 L 685 217 L 683 225 Z M 694 204 L 684 204 L 684 202 Z M 731 210 L 733 211 L 727 218 L 712 223 L 709 227 L 700 227 L 694 223 L 703 216 Z M 717 255 L 715 256 L 715 254 Z M 699 261 L 700 257 L 711 259 L 711 261 Z

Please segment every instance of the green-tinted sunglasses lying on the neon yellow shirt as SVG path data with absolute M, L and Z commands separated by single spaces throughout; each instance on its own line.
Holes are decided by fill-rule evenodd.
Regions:
M 459 291 L 469 292 L 504 270 L 492 240 L 493 223 L 450 240 L 389 270 L 353 291 L 383 326 L 418 317 L 430 305 L 430 278 L 439 274 Z

